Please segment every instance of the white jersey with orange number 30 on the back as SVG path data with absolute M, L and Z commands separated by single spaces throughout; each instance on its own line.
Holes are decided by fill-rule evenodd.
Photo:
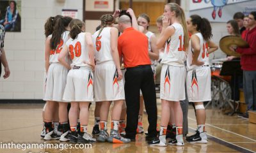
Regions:
M 87 50 L 85 33 L 79 33 L 76 39 L 70 38 L 67 43 L 68 52 L 74 66 L 90 66 L 86 63 L 90 62 L 90 55 Z

